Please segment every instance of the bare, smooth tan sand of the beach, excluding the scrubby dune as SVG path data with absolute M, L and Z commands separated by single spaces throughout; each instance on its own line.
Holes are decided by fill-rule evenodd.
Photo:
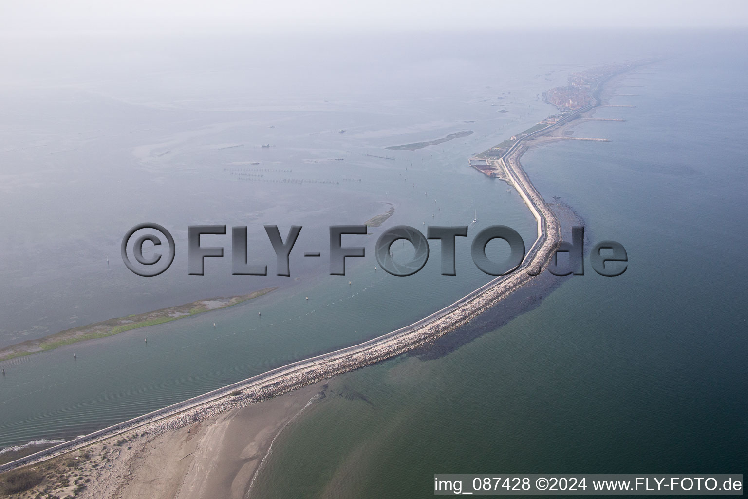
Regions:
M 310 385 L 134 441 L 131 447 L 137 452 L 115 467 L 120 479 L 94 480 L 81 497 L 242 499 L 275 437 L 323 388 Z

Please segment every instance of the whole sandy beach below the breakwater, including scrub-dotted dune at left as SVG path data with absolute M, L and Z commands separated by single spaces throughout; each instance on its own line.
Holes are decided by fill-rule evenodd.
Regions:
M 64 453 L 11 472 L 43 477 L 13 497 L 244 498 L 276 436 L 324 389 L 317 383 L 186 426 L 151 425 Z

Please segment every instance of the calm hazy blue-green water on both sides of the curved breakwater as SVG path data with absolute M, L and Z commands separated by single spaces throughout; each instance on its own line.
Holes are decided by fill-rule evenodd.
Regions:
M 458 241 L 456 278 L 438 275 L 438 245 L 421 272 L 394 278 L 374 269 L 378 234 L 469 224 L 477 212 L 477 229 L 509 225 L 529 247 L 527 208 L 468 157 L 550 114 L 537 96 L 569 72 L 668 52 L 619 89 L 637 96 L 613 100 L 636 108 L 597 111 L 628 121 L 577 127 L 613 142 L 565 141 L 523 158 L 542 195 L 585 218 L 593 242 L 625 245 L 628 271 L 602 278 L 588 264 L 539 307 L 449 355 L 341 376 L 335 383 L 371 405 L 314 405 L 276 441 L 255 492 L 420 497 L 432 494 L 435 473 L 743 472 L 748 67 L 711 37 L 594 38 L 19 43 L 0 79 L 0 346 L 280 289 L 0 363 L 0 446 L 80 435 L 375 337 L 465 295 L 488 281 L 469 260 L 471 237 Z M 46 64 L 31 63 L 45 51 Z M 384 149 L 465 129 L 473 135 L 415 152 Z M 227 168 L 266 171 L 237 180 Z M 349 259 L 345 277 L 327 275 L 328 225 L 363 223 L 387 203 L 396 212 L 383 227 L 346 240 L 366 245 L 367 257 Z M 177 240 L 158 278 L 132 275 L 118 256 L 141 221 Z M 251 256 L 271 276 L 231 276 L 229 236 L 203 238 L 227 256 L 188 276 L 189 224 L 248 225 Z M 283 234 L 304 226 L 291 278 L 272 276 L 263 224 Z M 321 261 L 303 251 L 322 251 Z

